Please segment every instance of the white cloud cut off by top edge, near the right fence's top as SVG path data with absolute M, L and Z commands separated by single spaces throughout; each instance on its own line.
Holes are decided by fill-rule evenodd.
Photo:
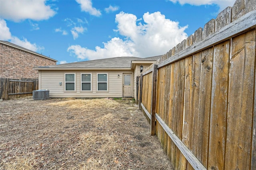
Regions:
M 169 0 L 171 2 L 179 2 L 180 4 L 191 4 L 191 5 L 211 5 L 217 4 L 220 6 L 220 11 L 224 10 L 228 6 L 233 6 L 236 0 Z

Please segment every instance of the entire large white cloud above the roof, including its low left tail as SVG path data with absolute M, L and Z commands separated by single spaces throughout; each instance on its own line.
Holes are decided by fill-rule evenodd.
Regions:
M 124 40 L 112 38 L 103 42 L 104 47 L 87 49 L 80 45 L 71 45 L 68 51 L 78 59 L 102 59 L 119 56 L 151 57 L 162 55 L 187 38 L 178 22 L 166 19 L 160 12 L 145 13 L 142 20 L 133 14 L 120 12 L 116 15 L 117 30 Z

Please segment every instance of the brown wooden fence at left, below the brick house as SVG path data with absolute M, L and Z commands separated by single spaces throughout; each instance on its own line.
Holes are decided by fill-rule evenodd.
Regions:
M 38 90 L 38 79 L 0 78 L 0 99 L 31 96 L 33 90 Z

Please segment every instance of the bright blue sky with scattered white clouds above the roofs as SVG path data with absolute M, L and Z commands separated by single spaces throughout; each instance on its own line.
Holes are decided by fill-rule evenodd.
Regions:
M 162 55 L 235 0 L 0 0 L 0 40 L 60 63 Z

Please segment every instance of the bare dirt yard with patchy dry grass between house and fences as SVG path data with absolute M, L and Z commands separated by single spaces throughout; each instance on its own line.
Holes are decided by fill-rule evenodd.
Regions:
M 0 101 L 0 170 L 172 170 L 133 100 Z

